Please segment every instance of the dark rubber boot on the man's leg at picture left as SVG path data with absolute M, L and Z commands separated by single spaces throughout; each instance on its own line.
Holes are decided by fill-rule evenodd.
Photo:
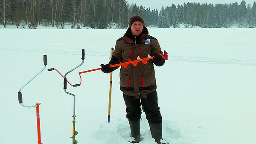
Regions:
M 131 143 L 140 142 L 140 120 L 129 121 L 131 128 L 131 136 L 135 138 L 135 141 L 130 141 Z

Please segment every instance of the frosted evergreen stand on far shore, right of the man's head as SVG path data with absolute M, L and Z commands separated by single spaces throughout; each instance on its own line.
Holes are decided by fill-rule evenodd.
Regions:
M 253 6 L 246 5 L 243 0 L 240 4 L 200 4 L 184 3 L 172 4 L 161 9 L 158 26 L 162 28 L 178 27 L 184 23 L 185 27 L 199 26 L 201 28 L 221 27 L 256 27 L 256 2 Z

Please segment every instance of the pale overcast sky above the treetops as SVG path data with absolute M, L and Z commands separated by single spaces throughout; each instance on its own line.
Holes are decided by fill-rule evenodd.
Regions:
M 242 0 L 126 0 L 129 4 L 136 3 L 137 6 L 144 6 L 145 8 L 157 9 L 158 12 L 161 10 L 162 6 L 172 6 L 172 3 L 177 4 L 183 4 L 183 3 L 234 3 L 237 2 L 238 4 L 241 3 Z M 256 0 L 245 0 L 246 4 L 250 3 L 251 6 L 253 5 L 253 2 Z

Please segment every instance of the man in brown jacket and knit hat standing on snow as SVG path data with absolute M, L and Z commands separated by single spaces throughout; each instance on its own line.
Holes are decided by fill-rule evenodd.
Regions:
M 120 69 L 120 89 L 126 105 L 126 117 L 128 118 L 131 135 L 135 139 L 132 143 L 140 142 L 140 115 L 141 108 L 146 114 L 152 137 L 157 144 L 162 139 L 162 116 L 157 104 L 156 79 L 154 65 L 163 66 L 164 59 L 158 54 L 163 52 L 156 38 L 148 35 L 148 29 L 144 26 L 143 17 L 134 15 L 130 18 L 129 28 L 125 35 L 116 40 L 115 50 L 110 62 L 101 64 L 102 72 L 109 73 L 118 67 L 110 68 L 110 65 L 130 60 L 137 57 L 147 58 L 148 54 L 154 56 L 146 64 L 138 63 L 137 66 L 129 64 L 127 68 Z

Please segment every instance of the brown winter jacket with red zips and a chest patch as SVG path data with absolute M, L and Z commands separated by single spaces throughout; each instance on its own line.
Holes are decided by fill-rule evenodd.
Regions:
M 125 35 L 116 40 L 113 56 L 124 63 L 131 60 L 137 60 L 137 57 L 147 58 L 148 54 L 153 56 L 161 52 L 160 45 L 156 38 L 148 35 L 148 30 L 144 27 L 140 38 L 132 40 L 131 29 L 128 28 Z M 133 36 L 134 37 L 134 36 Z M 136 44 L 135 42 L 136 41 Z M 156 78 L 152 60 L 146 64 L 138 63 L 137 66 L 129 64 L 127 68 L 121 66 L 120 69 L 120 89 L 121 91 L 134 91 L 156 89 Z

